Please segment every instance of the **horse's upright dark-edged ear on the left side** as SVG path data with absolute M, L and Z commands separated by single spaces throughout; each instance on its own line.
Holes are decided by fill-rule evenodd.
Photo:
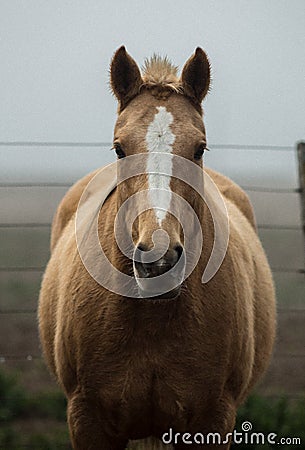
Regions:
M 110 66 L 111 89 L 120 102 L 120 109 L 139 93 L 142 83 L 136 62 L 124 46 L 120 47 L 115 52 Z

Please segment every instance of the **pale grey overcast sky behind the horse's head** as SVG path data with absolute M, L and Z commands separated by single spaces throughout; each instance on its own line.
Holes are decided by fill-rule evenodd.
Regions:
M 0 141 L 110 142 L 109 63 L 124 44 L 139 65 L 156 52 L 182 68 L 197 46 L 207 52 L 210 146 L 294 146 L 305 139 L 304 23 L 304 0 L 1 0 Z M 12 165 L 85 173 L 113 160 L 107 149 L 0 150 L 4 178 Z M 219 155 L 234 171 L 240 154 Z M 248 168 L 259 158 L 295 177 L 294 157 L 253 155 L 241 156 Z

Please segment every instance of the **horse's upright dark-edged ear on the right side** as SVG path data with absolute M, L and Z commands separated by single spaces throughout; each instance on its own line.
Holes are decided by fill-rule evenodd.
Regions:
M 210 63 L 202 48 L 197 47 L 194 55 L 185 63 L 181 83 L 188 97 L 201 103 L 210 86 Z

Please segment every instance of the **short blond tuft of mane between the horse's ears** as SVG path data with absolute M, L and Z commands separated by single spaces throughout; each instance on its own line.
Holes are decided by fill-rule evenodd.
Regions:
M 178 67 L 174 66 L 167 56 L 161 57 L 154 54 L 145 59 L 142 67 L 143 87 L 160 91 L 182 92 L 182 86 L 178 77 Z

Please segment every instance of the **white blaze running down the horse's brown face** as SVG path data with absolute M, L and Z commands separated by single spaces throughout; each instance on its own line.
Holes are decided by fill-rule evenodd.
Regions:
M 176 136 L 172 133 L 170 125 L 173 115 L 164 106 L 157 108 L 154 120 L 149 124 L 146 133 L 148 159 L 146 171 L 148 173 L 148 189 L 152 207 L 155 210 L 159 225 L 166 216 L 171 202 L 170 180 L 171 175 L 162 175 L 162 172 L 172 173 L 172 157 L 162 158 L 162 155 L 172 153 L 172 145 Z M 170 167 L 168 167 L 170 164 Z M 161 191 L 160 191 L 161 189 Z

